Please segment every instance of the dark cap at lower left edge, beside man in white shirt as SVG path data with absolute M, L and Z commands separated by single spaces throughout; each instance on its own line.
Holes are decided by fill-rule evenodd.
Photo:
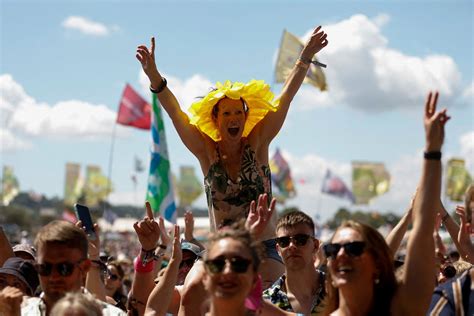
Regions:
M 11 274 L 23 282 L 33 295 L 39 285 L 38 273 L 35 270 L 33 261 L 19 257 L 8 258 L 0 268 L 0 273 Z

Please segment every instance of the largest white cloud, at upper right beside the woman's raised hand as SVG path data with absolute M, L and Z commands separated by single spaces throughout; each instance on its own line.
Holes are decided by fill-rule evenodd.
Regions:
M 318 58 L 328 65 L 325 74 L 329 91 L 321 93 L 304 86 L 295 107 L 346 104 L 371 112 L 413 108 L 422 106 L 426 93 L 434 89 L 444 100 L 454 99 L 461 83 L 454 60 L 436 54 L 410 56 L 388 47 L 381 27 L 389 20 L 388 15 L 369 19 L 358 14 L 324 26 L 329 45 Z

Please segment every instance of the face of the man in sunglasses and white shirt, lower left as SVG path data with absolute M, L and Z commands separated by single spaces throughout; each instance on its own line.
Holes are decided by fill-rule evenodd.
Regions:
M 41 288 L 47 301 L 56 302 L 66 292 L 81 289 L 85 283 L 87 271 L 90 268 L 90 261 L 83 259 L 84 256 L 81 250 L 64 245 L 46 244 L 38 249 L 37 262 L 39 264 L 78 263 L 69 276 L 60 275 L 56 267 L 52 269 L 51 274 L 48 276 L 39 275 Z

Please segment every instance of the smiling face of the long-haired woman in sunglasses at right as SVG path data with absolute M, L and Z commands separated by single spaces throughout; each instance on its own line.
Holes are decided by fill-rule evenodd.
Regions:
M 331 242 L 346 244 L 354 241 L 363 241 L 362 235 L 352 228 L 345 227 L 336 232 Z M 341 247 L 335 259 L 328 259 L 328 268 L 336 287 L 372 286 L 377 278 L 374 258 L 367 250 L 354 257 L 348 255 L 344 247 Z

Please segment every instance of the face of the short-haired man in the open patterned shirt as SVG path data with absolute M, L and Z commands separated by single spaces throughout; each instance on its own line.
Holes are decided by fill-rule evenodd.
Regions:
M 298 224 L 291 227 L 280 227 L 277 237 L 295 236 L 298 234 L 313 236 L 312 229 L 306 224 Z M 301 270 L 313 266 L 314 254 L 319 246 L 319 241 L 309 238 L 304 246 L 297 246 L 295 240 L 291 240 L 288 247 L 277 244 L 277 250 L 283 259 L 287 270 Z

